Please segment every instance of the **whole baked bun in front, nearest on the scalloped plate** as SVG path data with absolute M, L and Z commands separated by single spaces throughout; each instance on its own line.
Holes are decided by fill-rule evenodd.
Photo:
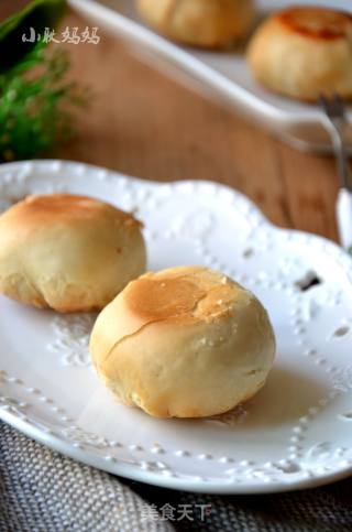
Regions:
M 98 316 L 90 354 L 124 403 L 157 417 L 202 417 L 257 392 L 275 338 L 251 292 L 219 272 L 179 267 L 128 284 Z

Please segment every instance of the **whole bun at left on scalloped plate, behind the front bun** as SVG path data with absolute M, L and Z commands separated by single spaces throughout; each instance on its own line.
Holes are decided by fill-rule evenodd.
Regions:
M 101 310 L 145 271 L 141 224 L 85 196 L 29 196 L 0 216 L 0 292 L 57 312 Z

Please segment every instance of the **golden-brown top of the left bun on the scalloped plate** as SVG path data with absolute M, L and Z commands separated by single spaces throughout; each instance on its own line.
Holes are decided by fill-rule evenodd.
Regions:
M 3 216 L 12 221 L 29 225 L 53 221 L 87 220 L 106 214 L 125 226 L 141 226 L 131 214 L 88 196 L 73 194 L 47 194 L 28 196 L 15 204 Z

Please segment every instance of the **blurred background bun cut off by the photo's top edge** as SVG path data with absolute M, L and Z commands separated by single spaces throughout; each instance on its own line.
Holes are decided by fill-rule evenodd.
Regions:
M 136 0 L 136 7 L 157 31 L 191 46 L 231 44 L 254 18 L 253 0 Z

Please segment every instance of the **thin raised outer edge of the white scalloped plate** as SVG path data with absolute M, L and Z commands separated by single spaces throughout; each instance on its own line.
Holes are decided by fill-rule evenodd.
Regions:
M 32 172 L 33 170 L 35 170 L 36 166 L 41 166 L 42 169 L 44 167 L 46 171 L 48 169 L 53 169 L 53 173 L 56 173 L 56 174 L 57 174 L 57 170 L 54 170 L 56 166 L 58 169 L 62 166 L 66 166 L 67 169 L 70 169 L 70 170 L 76 169 L 77 173 L 79 172 L 85 173 L 86 171 L 89 171 L 90 173 L 100 172 L 103 174 L 109 174 L 109 176 L 111 177 L 124 178 L 124 180 L 128 178 L 134 183 L 145 184 L 145 181 L 143 180 L 125 176 L 113 171 L 101 169 L 99 166 L 88 165 L 84 163 L 75 163 L 72 161 L 58 161 L 58 160 L 24 161 L 20 163 L 3 164 L 1 165 L 1 170 L 9 169 L 10 173 L 8 175 L 11 175 L 12 171 L 13 172 L 22 171 L 23 175 L 25 175 L 29 167 L 31 169 L 31 172 Z M 0 173 L 0 181 L 1 178 L 2 176 Z M 11 181 L 11 177 L 10 177 L 10 181 Z M 183 183 L 199 184 L 201 182 L 187 181 Z M 207 182 L 207 183 L 211 184 L 211 182 Z M 161 187 L 169 183 L 147 182 L 147 184 L 150 186 Z M 296 235 L 298 238 L 315 239 L 319 247 L 323 247 L 327 251 L 329 251 L 330 256 L 334 257 L 337 261 L 339 261 L 340 263 L 342 262 L 343 265 L 348 268 L 346 273 L 349 275 L 349 279 L 352 280 L 351 258 L 346 252 L 344 252 L 337 245 L 334 245 L 333 242 L 322 237 L 311 236 L 301 231 L 278 229 L 275 226 L 273 226 L 270 221 L 267 221 L 266 218 L 261 214 L 261 211 L 245 196 L 223 185 L 220 185 L 217 183 L 212 183 L 212 184 L 216 185 L 219 189 L 222 188 L 224 191 L 231 192 L 231 194 L 233 194 L 235 198 L 243 202 L 243 204 L 246 204 L 246 208 L 248 208 L 248 211 L 251 213 L 251 217 L 256 218 L 256 221 L 258 224 L 270 227 L 271 231 L 285 232 L 286 235 L 292 235 L 292 236 Z M 186 491 L 205 492 L 205 493 L 206 492 L 208 493 L 270 493 L 270 492 L 279 492 L 279 491 L 290 491 L 290 490 L 305 489 L 309 487 L 326 485 L 328 482 L 332 482 L 332 481 L 345 478 L 352 473 L 351 465 L 348 464 L 345 466 L 334 469 L 333 471 L 323 471 L 319 476 L 305 477 L 305 478 L 295 479 L 295 480 L 293 479 L 292 481 L 287 481 L 287 482 L 277 481 L 275 484 L 265 484 L 265 482 L 261 482 L 258 479 L 254 479 L 253 482 L 248 482 L 245 485 L 233 485 L 233 484 L 228 484 L 223 481 L 207 481 L 207 482 L 201 482 L 199 480 L 185 481 L 184 478 L 165 477 L 157 473 L 153 473 L 151 475 L 148 471 L 138 469 L 136 467 L 131 467 L 128 464 L 107 462 L 106 457 L 101 457 L 95 454 L 94 452 L 79 448 L 75 446 L 73 443 L 65 442 L 64 439 L 51 434 L 50 432 L 40 430 L 38 427 L 28 422 L 25 419 L 21 419 L 14 415 L 13 413 L 11 413 L 10 411 L 0 409 L 0 419 L 8 422 L 19 431 L 23 432 L 29 437 L 32 437 L 37 442 L 44 445 L 47 445 L 52 449 L 63 453 L 78 462 L 85 463 L 87 465 L 97 467 L 108 473 L 120 475 L 122 477 L 127 477 L 133 480 L 139 480 L 142 482 L 165 487 L 165 488 L 183 489 Z

